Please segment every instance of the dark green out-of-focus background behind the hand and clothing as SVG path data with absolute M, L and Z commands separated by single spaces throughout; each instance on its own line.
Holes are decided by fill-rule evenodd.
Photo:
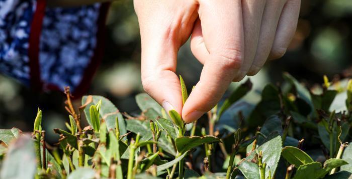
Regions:
M 251 77 L 254 90 L 251 99 L 260 100 L 265 84 L 282 81 L 289 72 L 308 86 L 329 79 L 352 76 L 352 1 L 303 0 L 296 35 L 286 55 L 270 61 Z M 202 65 L 194 58 L 187 42 L 179 52 L 177 73 L 188 89 L 199 80 Z M 87 94 L 110 99 L 120 111 L 138 114 L 134 96 L 143 92 L 140 80 L 140 37 L 133 1 L 112 4 L 107 19 L 105 57 Z M 241 83 L 241 82 L 240 82 Z M 231 88 L 239 83 L 233 83 Z M 231 90 L 231 89 L 230 89 Z M 255 95 L 256 94 L 256 95 Z M 80 103 L 77 101 L 76 103 Z M 64 95 L 35 93 L 18 82 L 0 75 L 0 128 L 16 126 L 31 131 L 37 108 L 43 110 L 43 127 L 49 142 L 57 136 L 53 128 L 65 128 L 68 113 Z

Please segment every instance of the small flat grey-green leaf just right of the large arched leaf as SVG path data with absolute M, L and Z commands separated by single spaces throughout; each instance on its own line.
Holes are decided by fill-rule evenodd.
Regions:
M 149 121 L 140 121 L 136 119 L 129 119 L 126 120 L 127 123 L 127 130 L 137 134 L 139 132 L 141 137 L 141 141 L 149 140 L 150 138 L 153 137 L 151 131 L 150 131 L 150 126 L 149 126 Z

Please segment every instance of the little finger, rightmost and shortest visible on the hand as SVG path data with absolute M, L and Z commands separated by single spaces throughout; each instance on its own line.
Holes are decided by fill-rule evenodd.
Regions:
M 285 4 L 269 59 L 278 59 L 284 56 L 296 32 L 300 7 L 300 0 L 288 0 Z

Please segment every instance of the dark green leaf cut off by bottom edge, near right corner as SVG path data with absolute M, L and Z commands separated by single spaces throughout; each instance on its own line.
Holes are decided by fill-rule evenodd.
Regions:
M 320 162 L 311 162 L 301 165 L 294 175 L 293 179 L 316 179 L 320 178 L 325 173 Z

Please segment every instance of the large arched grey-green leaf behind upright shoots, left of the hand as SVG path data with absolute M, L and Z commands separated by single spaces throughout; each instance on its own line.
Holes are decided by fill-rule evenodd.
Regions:
M 85 104 L 86 100 L 87 100 L 88 96 L 83 96 L 82 97 L 82 104 Z M 102 100 L 102 105 L 100 107 L 100 119 L 104 119 L 108 130 L 113 129 L 115 130 L 115 119 L 116 117 L 118 117 L 119 120 L 119 129 L 120 129 L 120 134 L 124 135 L 127 133 L 126 130 L 126 123 L 125 120 L 122 116 L 122 114 L 120 113 L 120 111 L 116 108 L 116 106 L 107 98 L 103 97 L 103 96 L 92 96 L 93 100 L 91 103 L 87 104 L 87 106 L 84 108 L 84 114 L 85 114 L 85 118 L 87 120 L 87 122 L 93 127 L 93 123 L 91 120 L 91 116 L 90 116 L 90 106 L 97 104 L 100 100 Z

